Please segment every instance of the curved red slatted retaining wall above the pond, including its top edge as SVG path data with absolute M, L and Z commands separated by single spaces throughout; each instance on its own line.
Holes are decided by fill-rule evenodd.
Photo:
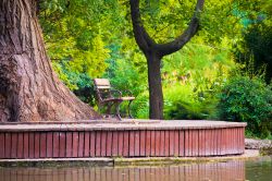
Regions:
M 200 122 L 200 121 L 199 121 Z M 0 159 L 200 157 L 243 154 L 245 124 L 0 125 Z M 181 125 L 180 125 L 181 124 Z M 175 126 L 174 126 L 175 125 Z M 180 125 L 180 126 L 176 126 Z M 8 129 L 7 129 L 8 128 Z

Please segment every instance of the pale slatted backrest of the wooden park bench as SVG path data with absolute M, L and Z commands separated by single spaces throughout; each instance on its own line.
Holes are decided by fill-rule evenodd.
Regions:
M 107 79 L 94 79 L 95 90 L 97 94 L 98 101 L 101 102 L 106 98 L 112 98 L 111 84 Z

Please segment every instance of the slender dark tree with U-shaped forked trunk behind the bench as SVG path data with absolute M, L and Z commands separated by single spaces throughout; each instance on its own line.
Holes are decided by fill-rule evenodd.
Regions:
M 148 64 L 149 118 L 163 119 L 163 94 L 161 84 L 161 59 L 182 49 L 199 29 L 199 14 L 205 0 L 198 0 L 195 13 L 185 32 L 171 43 L 157 44 L 144 27 L 140 17 L 139 0 L 129 0 L 133 31 L 137 45 L 144 52 Z

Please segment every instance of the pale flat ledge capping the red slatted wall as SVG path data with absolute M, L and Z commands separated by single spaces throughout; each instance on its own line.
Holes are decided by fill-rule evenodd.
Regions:
M 0 132 L 18 131 L 124 131 L 124 130 L 202 130 L 218 128 L 245 128 L 244 122 L 208 121 L 208 120 L 136 120 L 124 121 L 78 121 L 78 122 L 36 122 L 1 123 Z

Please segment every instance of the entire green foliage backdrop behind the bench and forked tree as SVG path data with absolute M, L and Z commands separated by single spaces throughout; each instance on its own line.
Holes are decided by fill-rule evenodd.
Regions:
M 146 59 L 134 40 L 128 1 L 41 2 L 39 20 L 60 79 L 84 101 L 94 105 L 91 77 L 108 77 L 115 88 L 131 89 L 137 96 L 132 105 L 133 114 L 148 118 Z M 181 35 L 196 3 L 189 0 L 140 2 L 145 27 L 158 43 Z M 265 65 L 267 74 L 271 73 L 271 0 L 205 2 L 198 36 L 163 60 L 165 119 L 218 118 L 217 94 L 237 65 L 232 55 L 234 45 L 245 70 L 250 67 L 248 56 L 254 55 L 254 72 Z M 271 131 L 271 90 L 260 81 L 239 80 L 239 85 L 248 88 L 236 86 L 238 81 L 234 80 L 224 87 L 220 96 L 221 118 L 247 121 L 247 134 L 265 136 Z M 223 102 L 223 97 L 228 104 Z M 264 100 L 270 105 L 265 106 Z

